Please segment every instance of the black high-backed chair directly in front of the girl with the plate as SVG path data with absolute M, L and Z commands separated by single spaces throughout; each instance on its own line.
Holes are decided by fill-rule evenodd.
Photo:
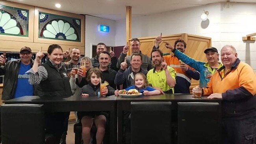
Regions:
M 132 144 L 171 144 L 171 102 L 131 102 Z

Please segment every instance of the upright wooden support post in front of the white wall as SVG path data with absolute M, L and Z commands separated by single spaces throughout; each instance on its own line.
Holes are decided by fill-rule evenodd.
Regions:
M 132 7 L 126 6 L 126 43 L 129 43 L 129 39 L 132 37 Z M 128 51 L 128 54 L 130 55 L 130 49 Z

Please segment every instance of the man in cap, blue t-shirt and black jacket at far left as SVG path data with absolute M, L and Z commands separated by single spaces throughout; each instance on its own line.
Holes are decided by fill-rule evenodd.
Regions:
M 0 55 L 0 63 L 5 63 L 4 66 L 0 67 L 0 75 L 4 75 L 2 100 L 35 94 L 33 85 L 28 82 L 29 73 L 26 73 L 33 65 L 31 57 L 32 51 L 27 46 L 20 49 L 20 59 L 6 63 L 6 57 Z

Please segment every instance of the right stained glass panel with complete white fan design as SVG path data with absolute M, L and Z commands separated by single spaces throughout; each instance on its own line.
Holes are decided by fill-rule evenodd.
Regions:
M 39 11 L 39 38 L 81 41 L 81 19 Z

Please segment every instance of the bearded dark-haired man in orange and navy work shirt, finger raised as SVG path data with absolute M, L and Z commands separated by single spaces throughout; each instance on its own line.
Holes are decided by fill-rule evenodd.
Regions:
M 159 48 L 159 44 L 162 42 L 161 36 L 156 37 L 154 48 Z M 174 43 L 174 48 L 177 48 L 180 52 L 184 53 L 186 50 L 186 42 L 181 39 L 177 39 Z M 186 93 L 189 94 L 189 87 L 191 85 L 191 78 L 199 80 L 200 73 L 184 64 L 176 57 L 176 55 L 163 56 L 168 66 L 171 66 L 176 71 L 176 85 L 174 86 L 174 93 Z

